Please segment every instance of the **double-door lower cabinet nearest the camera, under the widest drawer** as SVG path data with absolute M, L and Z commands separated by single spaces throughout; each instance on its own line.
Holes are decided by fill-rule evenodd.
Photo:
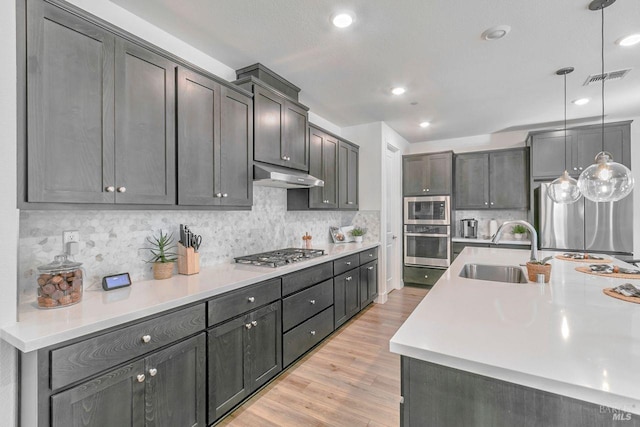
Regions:
M 54 394 L 51 425 L 206 426 L 205 358 L 202 333 Z

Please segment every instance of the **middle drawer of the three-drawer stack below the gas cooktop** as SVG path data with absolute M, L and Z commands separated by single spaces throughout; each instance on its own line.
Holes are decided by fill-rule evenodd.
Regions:
M 282 330 L 320 313 L 333 304 L 333 279 L 329 279 L 282 300 Z

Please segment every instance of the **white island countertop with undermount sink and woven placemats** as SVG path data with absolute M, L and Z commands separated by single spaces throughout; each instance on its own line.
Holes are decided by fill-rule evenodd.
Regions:
M 459 277 L 467 263 L 528 258 L 528 250 L 466 247 L 393 336 L 391 351 L 640 414 L 640 304 L 602 292 L 640 280 L 580 273 L 588 263 L 555 258 L 544 285 Z

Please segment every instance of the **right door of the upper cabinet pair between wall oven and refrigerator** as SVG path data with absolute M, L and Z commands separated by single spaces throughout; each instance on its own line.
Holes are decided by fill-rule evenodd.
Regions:
M 490 154 L 489 205 L 491 208 L 527 209 L 529 207 L 528 165 L 526 149 Z

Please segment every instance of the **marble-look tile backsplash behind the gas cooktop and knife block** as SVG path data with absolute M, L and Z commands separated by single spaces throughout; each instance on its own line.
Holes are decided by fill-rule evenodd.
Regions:
M 21 211 L 19 296 L 35 298 L 37 267 L 62 252 L 64 230 L 79 231 L 80 252 L 74 259 L 85 268 L 85 287 L 125 271 L 132 280 L 151 279 L 151 264 L 144 262 L 149 254 L 141 248 L 159 230 L 178 240 L 179 224 L 202 235 L 201 267 L 240 255 L 302 247 L 306 232 L 313 236 L 312 244 L 326 244 L 331 242 L 330 226 L 366 227 L 366 241 L 380 240 L 379 211 L 287 211 L 286 191 L 254 186 L 251 211 Z

